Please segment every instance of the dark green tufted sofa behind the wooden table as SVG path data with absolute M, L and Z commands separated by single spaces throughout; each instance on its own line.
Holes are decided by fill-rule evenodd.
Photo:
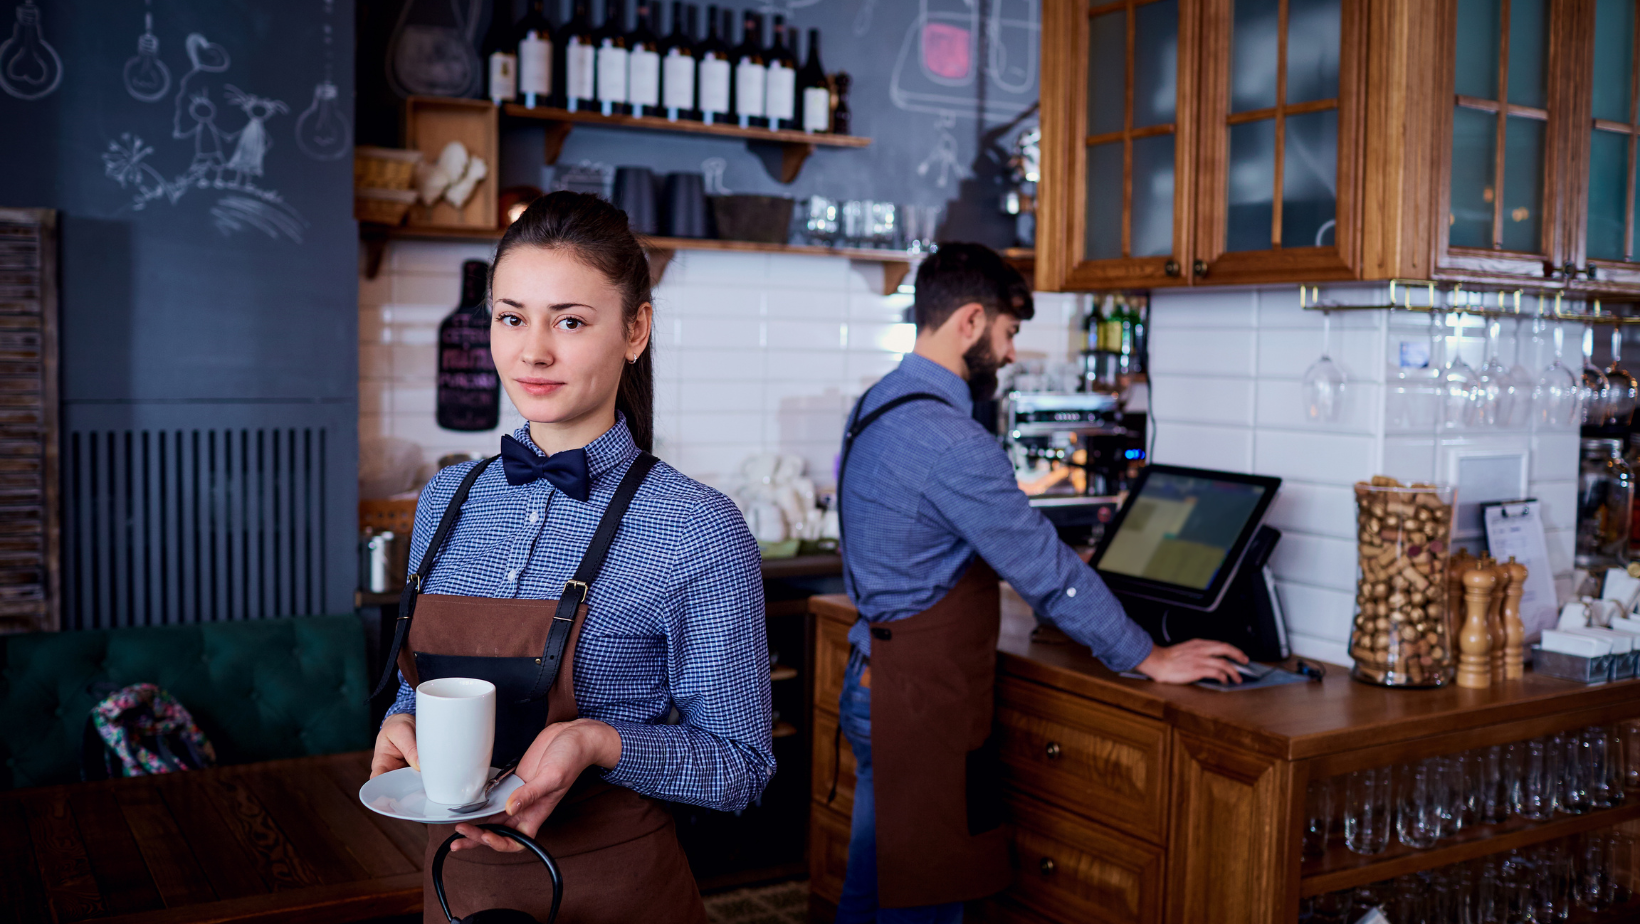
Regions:
M 80 778 L 98 683 L 157 683 L 220 763 L 371 747 L 353 614 L 0 635 L 0 788 Z

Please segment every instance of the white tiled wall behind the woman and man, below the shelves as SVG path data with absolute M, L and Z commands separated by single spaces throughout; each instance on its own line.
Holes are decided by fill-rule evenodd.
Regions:
M 376 279 L 359 281 L 359 435 L 444 453 L 495 451 L 518 427 L 503 399 L 495 432 L 458 433 L 433 420 L 438 323 L 461 287 L 461 263 L 490 245 L 395 241 Z M 874 263 L 684 251 L 656 289 L 656 453 L 725 487 L 751 453 L 807 460 L 828 486 L 843 419 L 859 394 L 912 348 L 910 295 L 882 295 Z M 1079 297 L 1040 294 L 1020 330 L 1022 356 L 1064 359 Z

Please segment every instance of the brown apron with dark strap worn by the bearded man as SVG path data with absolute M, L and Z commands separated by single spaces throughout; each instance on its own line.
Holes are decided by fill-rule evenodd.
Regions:
M 853 440 L 887 410 L 930 399 L 945 400 L 902 396 L 864 420 L 856 409 L 838 471 L 840 499 Z M 871 627 L 871 760 L 882 908 L 971 901 L 1014 880 L 1002 826 L 1000 760 L 991 735 L 1000 625 L 997 574 L 976 556 L 932 607 Z

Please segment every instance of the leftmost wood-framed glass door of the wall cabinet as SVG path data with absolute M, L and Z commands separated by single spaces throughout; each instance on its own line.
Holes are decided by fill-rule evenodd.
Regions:
M 1064 2 L 1064 0 L 1059 0 Z M 1043 8 L 1043 172 L 1063 158 L 1069 215 L 1063 243 L 1038 233 L 1038 248 L 1066 246 L 1073 289 L 1179 286 L 1187 281 L 1191 80 L 1196 0 L 1076 3 L 1063 20 L 1076 33 L 1076 66 L 1050 59 L 1051 8 Z M 1064 80 L 1059 112 L 1073 126 L 1050 146 L 1051 80 Z M 1051 230 L 1043 228 L 1045 233 Z

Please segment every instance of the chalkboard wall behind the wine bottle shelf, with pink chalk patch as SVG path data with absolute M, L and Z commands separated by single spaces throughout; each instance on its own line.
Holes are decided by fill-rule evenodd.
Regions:
M 633 5 L 613 2 L 617 8 Z M 494 3 L 507 16 L 522 11 L 513 0 Z M 554 23 L 564 21 L 569 2 L 548 0 L 549 15 L 559 3 Z M 671 15 L 669 0 L 656 7 Z M 1014 222 L 999 202 L 1007 144 L 1035 125 L 1038 0 L 748 0 L 730 7 L 784 15 L 802 30 L 804 43 L 809 30 L 818 28 L 827 71 L 854 79 L 853 133 L 869 136 L 871 146 L 820 148 L 794 184 L 781 185 L 740 141 L 577 126 L 559 164 L 638 164 L 661 172 L 700 171 L 704 161 L 720 158 L 723 185 L 731 192 L 945 205 L 941 238 L 1014 243 Z M 358 10 L 359 138 L 397 144 L 405 87 L 389 59 L 399 48 L 394 36 L 430 21 L 477 36 L 476 44 L 489 26 L 492 0 L 359 0 Z M 597 0 L 592 21 L 602 21 Z M 669 30 L 669 20 L 663 26 Z M 943 41 L 925 43 L 925 34 Z M 802 51 L 807 54 L 807 44 Z M 464 95 L 482 95 L 481 77 L 474 75 Z M 543 185 L 543 130 L 503 121 L 502 131 L 502 184 Z

